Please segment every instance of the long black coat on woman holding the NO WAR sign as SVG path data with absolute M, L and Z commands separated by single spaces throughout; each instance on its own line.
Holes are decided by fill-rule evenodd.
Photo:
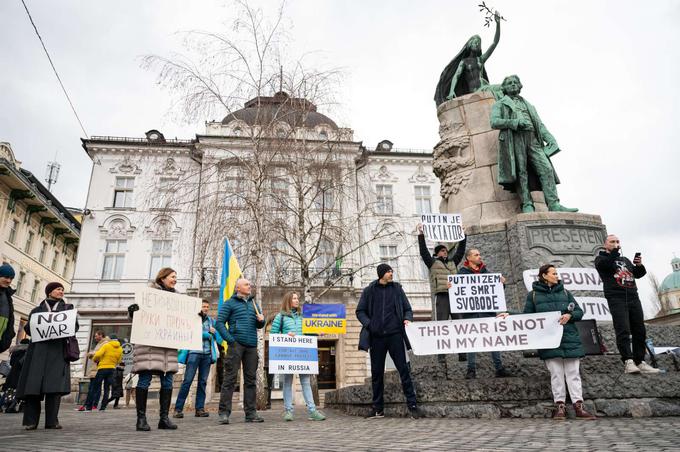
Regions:
M 59 300 L 52 308 L 52 312 L 69 309 L 73 309 L 72 304 Z M 43 300 L 33 308 L 24 327 L 26 334 L 31 334 L 31 316 L 37 312 L 49 311 L 47 300 Z M 78 322 L 76 322 L 76 331 L 78 331 Z M 26 396 L 44 394 L 66 395 L 71 392 L 71 363 L 64 359 L 65 342 L 66 339 L 31 341 L 19 376 L 17 398 L 25 399 Z

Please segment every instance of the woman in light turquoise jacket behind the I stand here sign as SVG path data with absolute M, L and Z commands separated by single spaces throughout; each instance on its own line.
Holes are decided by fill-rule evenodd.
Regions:
M 269 334 L 287 334 L 289 336 L 302 335 L 302 309 L 300 308 L 300 296 L 296 292 L 288 292 L 283 296 L 281 311 L 276 314 L 272 322 Z M 311 375 L 300 374 L 300 386 L 302 396 L 307 405 L 308 419 L 310 421 L 323 421 L 326 416 L 316 409 L 314 395 L 312 394 Z M 283 375 L 283 419 L 292 421 L 293 415 L 293 374 Z

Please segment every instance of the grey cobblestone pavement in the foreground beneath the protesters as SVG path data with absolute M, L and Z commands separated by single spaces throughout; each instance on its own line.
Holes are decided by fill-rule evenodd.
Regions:
M 680 418 L 608 418 L 564 422 L 549 419 L 402 419 L 364 420 L 333 410 L 312 422 L 297 412 L 286 423 L 280 411 L 265 411 L 262 424 L 246 424 L 234 413 L 230 425 L 186 413 L 179 429 L 157 430 L 157 409 L 150 410 L 150 432 L 134 430 L 134 409 L 79 413 L 64 404 L 63 430 L 24 431 L 21 414 L 0 414 L 2 451 L 189 451 L 189 450 L 680 450 Z

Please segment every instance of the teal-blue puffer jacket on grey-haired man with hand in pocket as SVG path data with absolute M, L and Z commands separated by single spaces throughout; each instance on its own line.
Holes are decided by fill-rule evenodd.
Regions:
M 253 297 L 246 300 L 234 294 L 220 306 L 215 329 L 229 345 L 238 342 L 246 347 L 257 347 L 257 330 L 265 325 L 264 319 L 257 320 L 258 312 L 262 309 L 255 307 Z M 229 324 L 229 329 L 225 323 Z

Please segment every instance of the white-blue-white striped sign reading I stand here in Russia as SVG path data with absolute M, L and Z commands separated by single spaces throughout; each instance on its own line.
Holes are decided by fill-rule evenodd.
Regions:
M 318 374 L 319 352 L 315 336 L 269 335 L 270 374 Z

